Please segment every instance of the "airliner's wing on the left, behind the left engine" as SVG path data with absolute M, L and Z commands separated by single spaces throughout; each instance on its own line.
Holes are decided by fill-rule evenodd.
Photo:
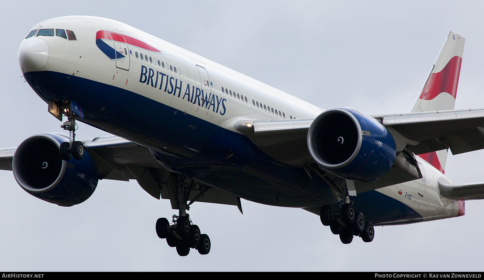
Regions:
M 54 133 L 68 138 L 61 133 Z M 151 196 L 169 199 L 173 209 L 178 209 L 174 173 L 164 168 L 152 155 L 149 148 L 117 136 L 80 140 L 96 162 L 99 178 L 129 181 L 136 179 Z M 0 149 L 0 170 L 12 170 L 12 159 L 16 148 Z M 209 202 L 236 205 L 241 209 L 240 198 L 211 186 L 190 183 L 188 200 L 193 203 Z

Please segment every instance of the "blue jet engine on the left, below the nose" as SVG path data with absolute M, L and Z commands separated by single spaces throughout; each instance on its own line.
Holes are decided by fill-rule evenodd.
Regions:
M 69 139 L 58 134 L 37 134 L 15 150 L 15 180 L 31 195 L 60 206 L 84 202 L 98 182 L 96 163 L 85 151 L 81 160 L 61 160 L 59 147 Z

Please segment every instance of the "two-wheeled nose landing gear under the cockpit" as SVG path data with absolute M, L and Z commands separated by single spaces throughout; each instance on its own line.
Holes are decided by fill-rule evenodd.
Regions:
M 71 158 L 81 160 L 84 157 L 84 146 L 81 141 L 76 141 L 76 115 L 66 109 L 67 121 L 61 125 L 61 128 L 69 131 L 69 142 L 61 143 L 59 153 L 63 161 Z

